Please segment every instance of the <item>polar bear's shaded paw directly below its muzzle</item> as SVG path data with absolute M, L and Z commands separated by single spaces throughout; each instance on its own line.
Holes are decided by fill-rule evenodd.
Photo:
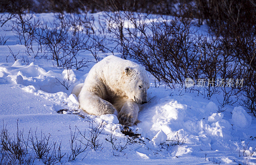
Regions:
M 117 117 L 121 124 L 132 126 L 140 122 L 138 120 L 138 112 L 138 104 L 134 101 L 127 101 L 124 103 Z

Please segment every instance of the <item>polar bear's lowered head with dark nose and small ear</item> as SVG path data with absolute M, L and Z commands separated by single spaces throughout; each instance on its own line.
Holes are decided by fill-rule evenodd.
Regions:
M 122 77 L 126 96 L 138 104 L 147 103 L 149 79 L 146 70 L 141 66 L 125 67 Z

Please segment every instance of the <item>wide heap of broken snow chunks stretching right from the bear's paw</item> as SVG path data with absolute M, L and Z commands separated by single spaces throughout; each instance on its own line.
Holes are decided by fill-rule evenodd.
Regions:
M 219 141 L 231 140 L 231 125 L 223 119 L 223 113 L 212 113 L 218 109 L 213 102 L 209 102 L 206 106 L 194 104 L 189 107 L 193 104 L 193 100 L 184 97 L 177 101 L 170 96 L 153 97 L 150 102 L 139 112 L 141 123 L 138 124 L 138 128 L 141 128 L 140 132 L 156 144 L 163 142 L 161 139 L 163 133 L 167 139 L 176 140 L 184 137 L 186 143 L 206 147 Z M 205 114 L 209 114 L 206 118 L 205 115 L 201 115 L 202 109 L 205 110 Z M 165 137 L 164 139 L 166 140 Z M 189 151 L 188 148 L 186 150 Z

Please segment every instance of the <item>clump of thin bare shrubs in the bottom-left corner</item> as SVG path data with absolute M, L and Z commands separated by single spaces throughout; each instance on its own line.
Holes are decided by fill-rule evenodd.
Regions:
M 24 130 L 19 129 L 17 120 L 17 131 L 10 135 L 7 124 L 0 130 L 0 164 L 34 164 L 36 158 L 41 159 L 44 164 L 54 165 L 58 162 L 63 163 L 63 157 L 66 153 L 62 153 L 61 143 L 50 142 L 50 134 L 38 136 L 28 132 L 28 136 L 24 137 Z M 32 134 L 31 134 L 32 133 Z M 31 136 L 30 136 L 31 135 Z M 28 150 L 28 149 L 31 150 Z M 34 154 L 31 154 L 31 151 Z M 35 156 L 34 156 L 35 155 Z

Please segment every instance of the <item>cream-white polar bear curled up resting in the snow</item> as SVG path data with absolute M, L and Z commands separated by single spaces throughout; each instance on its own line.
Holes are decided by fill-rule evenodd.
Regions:
M 148 88 L 149 78 L 143 67 L 110 55 L 96 63 L 72 93 L 87 113 L 103 115 L 117 110 L 119 122 L 132 126 L 140 122 L 139 104 L 147 103 Z

